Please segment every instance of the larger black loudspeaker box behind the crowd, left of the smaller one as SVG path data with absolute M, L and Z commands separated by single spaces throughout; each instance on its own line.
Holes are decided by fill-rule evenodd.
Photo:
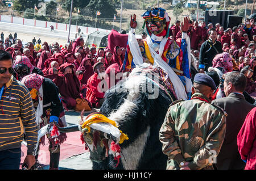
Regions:
M 216 23 L 220 23 L 224 29 L 228 27 L 228 15 L 234 15 L 234 11 L 224 10 L 206 10 L 205 11 L 205 23 L 212 23 L 215 26 Z

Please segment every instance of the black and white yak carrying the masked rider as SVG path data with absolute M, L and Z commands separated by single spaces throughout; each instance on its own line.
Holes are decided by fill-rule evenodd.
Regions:
M 129 140 L 120 144 L 121 160 L 117 167 L 114 167 L 117 161 L 112 154 L 105 156 L 110 141 L 108 146 L 90 149 L 92 169 L 166 169 L 167 155 L 162 152 L 159 130 L 176 98 L 174 90 L 170 90 L 171 82 L 164 82 L 164 76 L 166 74 L 159 68 L 137 68 L 105 93 L 100 112 L 114 120 Z M 59 131 L 79 131 L 78 127 L 73 125 L 59 128 Z

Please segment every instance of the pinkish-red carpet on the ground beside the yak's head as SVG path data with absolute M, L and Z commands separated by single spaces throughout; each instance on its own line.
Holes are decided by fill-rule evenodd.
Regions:
M 72 132 L 67 133 L 67 140 L 60 145 L 60 161 L 69 157 L 72 157 L 73 155 L 78 155 L 81 153 L 85 153 L 88 150 L 85 150 L 84 144 L 82 144 L 82 141 L 80 140 L 81 132 Z M 47 143 L 47 140 L 46 140 Z M 39 157 L 38 160 L 44 165 L 49 165 L 49 145 L 40 145 L 40 151 L 39 151 Z M 22 158 L 20 162 L 20 169 L 21 165 L 25 159 L 25 156 L 27 155 L 27 147 L 22 145 Z

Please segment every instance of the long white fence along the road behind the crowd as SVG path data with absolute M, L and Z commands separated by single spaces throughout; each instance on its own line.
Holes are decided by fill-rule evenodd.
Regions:
M 41 27 L 41 28 L 51 28 L 50 26 L 52 25 L 55 28 L 55 30 L 69 31 L 69 24 L 47 22 L 47 21 L 41 21 L 41 20 L 36 20 L 36 19 L 19 18 L 19 17 L 15 17 L 15 16 L 0 15 L 0 22 L 23 24 L 26 26 Z M 105 31 L 105 32 L 111 31 L 111 30 L 104 30 L 101 28 L 82 27 L 82 26 L 71 25 L 71 32 L 77 32 L 78 28 L 80 28 L 81 32 L 83 32 L 84 34 L 89 34 L 94 31 Z

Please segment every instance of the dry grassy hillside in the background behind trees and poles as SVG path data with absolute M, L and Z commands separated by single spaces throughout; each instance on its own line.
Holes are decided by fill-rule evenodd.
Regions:
M 163 9 L 167 10 L 169 16 L 171 17 L 171 24 L 173 24 L 176 20 L 175 16 L 172 14 L 174 5 L 171 5 L 171 3 L 168 4 L 168 3 L 161 3 L 161 2 L 163 2 L 163 1 L 160 1 L 159 7 L 162 7 Z M 164 2 L 168 2 L 168 1 L 164 0 Z M 220 7 L 218 9 L 223 9 L 224 1 L 214 0 L 214 2 L 219 2 Z M 243 0 L 226 0 L 226 2 L 227 2 L 226 9 L 234 10 L 235 14 L 238 12 L 238 10 L 245 9 L 245 1 L 243 1 Z M 253 1 L 248 0 L 248 2 L 249 3 L 247 5 L 247 9 L 251 10 L 251 8 L 253 7 Z M 157 1 L 153 1 L 153 0 L 124 1 L 123 11 L 122 11 L 122 29 L 129 31 L 130 16 L 133 14 L 136 14 L 137 22 L 138 22 L 137 33 L 141 33 L 143 31 L 141 28 L 143 25 L 143 19 L 141 18 L 141 15 L 148 8 L 156 7 L 156 6 L 157 6 Z M 45 8 L 45 6 L 44 6 L 44 8 Z M 60 9 L 60 11 L 57 12 L 57 19 L 56 19 L 57 22 L 63 22 L 63 23 L 68 24 L 69 23 L 69 12 L 63 10 L 61 6 L 59 6 L 59 9 Z M 119 21 L 120 21 L 121 10 L 117 9 L 116 11 L 117 11 L 117 15 L 116 15 L 117 19 L 114 22 L 113 22 L 112 18 L 106 19 L 102 16 L 98 16 L 97 17 L 98 18 L 97 27 L 111 30 L 114 26 L 114 29 L 119 31 L 119 27 L 120 27 Z M 195 11 L 196 11 L 196 8 L 189 8 L 189 9 L 184 8 L 183 12 L 179 16 L 179 20 L 182 20 L 185 15 L 191 16 L 191 14 L 193 14 L 193 12 L 195 12 Z M 34 15 L 33 12 L 34 12 L 34 10 L 32 10 L 30 12 L 30 16 L 32 16 L 32 17 Z M 0 9 L 0 14 L 24 17 L 24 12 L 13 11 L 11 8 Z M 41 9 L 39 9 L 38 11 L 36 11 L 36 15 L 40 16 L 40 17 L 36 16 L 36 18 L 37 17 L 43 18 L 43 16 L 45 16 L 45 14 L 43 14 L 43 7 Z M 37 19 L 39 19 L 39 18 L 37 18 Z M 39 20 L 43 20 L 43 19 L 39 19 Z M 76 20 L 78 20 L 77 21 L 78 26 L 95 27 L 95 17 L 84 16 L 84 15 L 80 14 L 79 18 L 77 19 L 77 13 L 73 12 L 72 13 L 72 24 L 76 24 Z

